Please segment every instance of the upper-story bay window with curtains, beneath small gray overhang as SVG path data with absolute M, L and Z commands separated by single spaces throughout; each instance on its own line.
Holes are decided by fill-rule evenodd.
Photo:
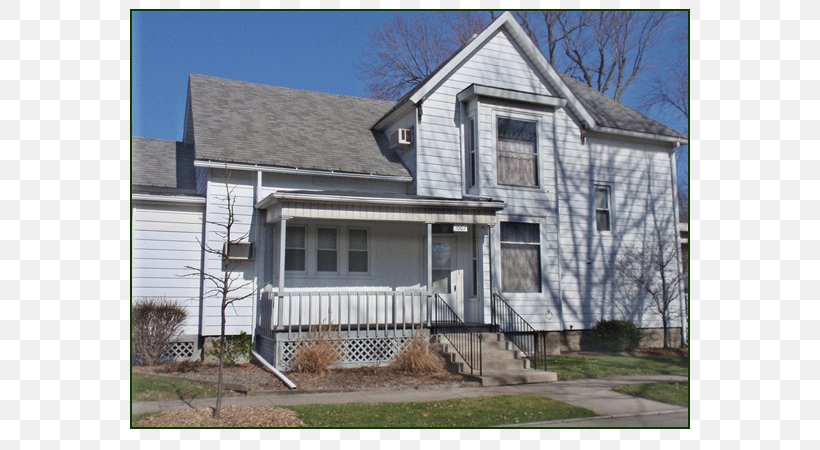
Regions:
M 537 139 L 536 122 L 497 119 L 498 184 L 538 186 Z

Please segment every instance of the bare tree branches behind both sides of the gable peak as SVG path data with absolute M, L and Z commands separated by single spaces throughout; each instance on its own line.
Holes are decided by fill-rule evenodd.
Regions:
M 662 11 L 518 11 L 514 15 L 558 71 L 616 100 L 651 68 L 646 55 L 658 45 L 657 35 L 668 19 Z M 374 97 L 396 99 L 496 16 L 496 12 L 396 16 L 371 33 L 371 50 L 359 65 L 361 76 Z

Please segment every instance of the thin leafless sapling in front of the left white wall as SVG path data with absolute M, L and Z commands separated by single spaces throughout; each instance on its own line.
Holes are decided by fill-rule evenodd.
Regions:
M 207 221 L 208 224 L 216 227 L 214 234 L 223 245 L 212 247 L 207 241 L 199 242 L 204 252 L 219 257 L 222 261 L 222 270 L 211 272 L 204 266 L 201 268 L 193 266 L 185 267 L 190 271 L 185 276 L 198 277 L 205 280 L 208 287 L 203 292 L 203 297 L 215 296 L 221 300 L 220 313 L 222 321 L 219 333 L 219 375 L 217 377 L 216 406 L 214 408 L 214 418 L 216 419 L 219 418 L 220 411 L 222 410 L 222 369 L 225 366 L 226 346 L 225 312 L 228 306 L 254 295 L 252 289 L 253 281 L 243 280 L 241 275 L 237 273 L 237 268 L 235 267 L 238 261 L 231 259 L 231 247 L 246 240 L 248 233 L 242 234 L 236 232 L 235 227 L 238 225 L 235 212 L 236 194 L 234 193 L 234 187 L 230 184 L 230 173 L 225 176 L 224 185 L 224 197 L 217 196 L 216 199 L 224 205 L 223 208 L 226 210 L 225 221 Z

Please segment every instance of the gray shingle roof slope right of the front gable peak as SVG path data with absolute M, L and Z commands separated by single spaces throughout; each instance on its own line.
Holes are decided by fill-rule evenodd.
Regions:
M 564 74 L 560 75 L 564 83 L 567 84 L 598 125 L 618 130 L 638 131 L 686 139 L 686 136 L 681 133 L 624 106 L 582 82 Z

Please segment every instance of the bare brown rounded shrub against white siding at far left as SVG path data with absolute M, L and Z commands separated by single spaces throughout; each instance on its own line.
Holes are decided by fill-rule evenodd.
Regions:
M 182 334 L 185 310 L 165 298 L 141 297 L 131 307 L 133 343 L 137 360 L 156 365 Z

